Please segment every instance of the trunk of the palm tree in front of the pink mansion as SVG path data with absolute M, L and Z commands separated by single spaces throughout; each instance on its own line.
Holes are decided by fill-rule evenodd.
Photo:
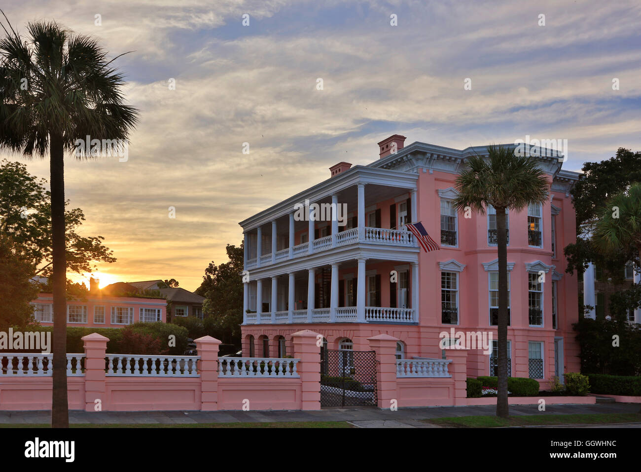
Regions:
M 505 228 L 505 209 L 496 208 L 497 249 L 499 252 L 499 326 L 498 337 L 498 387 L 496 415 L 507 418 L 508 406 L 508 240 Z

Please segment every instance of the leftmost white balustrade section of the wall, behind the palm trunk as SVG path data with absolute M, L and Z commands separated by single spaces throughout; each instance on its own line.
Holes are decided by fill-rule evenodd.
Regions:
M 67 354 L 67 376 L 83 376 L 85 354 Z M 49 377 L 53 374 L 53 354 L 0 354 L 0 376 Z

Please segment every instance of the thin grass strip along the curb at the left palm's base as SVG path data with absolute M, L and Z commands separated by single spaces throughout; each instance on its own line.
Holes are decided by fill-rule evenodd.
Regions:
M 270 423 L 69 424 L 69 428 L 353 428 L 345 421 L 282 421 Z M 0 424 L 0 428 L 51 428 L 50 424 Z

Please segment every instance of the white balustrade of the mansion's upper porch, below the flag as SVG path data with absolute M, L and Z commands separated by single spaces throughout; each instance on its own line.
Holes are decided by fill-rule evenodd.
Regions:
M 324 236 L 317 240 L 312 241 L 311 251 L 313 254 L 319 252 L 326 252 L 337 247 L 345 247 L 354 244 L 375 244 L 390 248 L 415 248 L 418 249 L 419 245 L 414 235 L 406 230 L 401 229 L 387 229 L 387 228 L 363 228 L 363 240 L 358 238 L 358 228 L 351 228 L 336 234 L 336 241 L 333 243 L 332 236 Z M 456 232 L 454 232 L 454 241 L 456 241 Z M 303 243 L 291 248 L 282 249 L 276 252 L 276 257 L 272 258 L 272 254 L 263 254 L 260 256 L 260 267 L 269 266 L 273 263 L 280 263 L 287 260 L 304 258 L 310 254 L 310 243 Z M 258 259 L 247 259 L 245 266 L 246 270 L 259 267 Z

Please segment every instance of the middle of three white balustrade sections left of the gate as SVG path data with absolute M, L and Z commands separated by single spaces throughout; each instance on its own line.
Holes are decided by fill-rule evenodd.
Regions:
M 199 356 L 148 356 L 144 354 L 106 354 L 108 376 L 122 377 L 197 377 Z

